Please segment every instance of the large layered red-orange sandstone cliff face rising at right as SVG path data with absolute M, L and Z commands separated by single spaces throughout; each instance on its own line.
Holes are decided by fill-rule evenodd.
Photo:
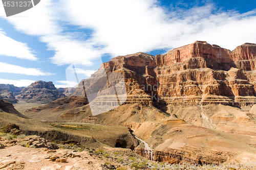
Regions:
M 126 104 L 199 105 L 207 95 L 203 105 L 252 106 L 256 103 L 255 57 L 256 44 L 245 43 L 229 51 L 195 41 L 156 57 L 145 53 L 118 56 L 84 81 L 97 82 L 104 68 L 122 74 Z M 73 95 L 82 94 L 80 83 Z

